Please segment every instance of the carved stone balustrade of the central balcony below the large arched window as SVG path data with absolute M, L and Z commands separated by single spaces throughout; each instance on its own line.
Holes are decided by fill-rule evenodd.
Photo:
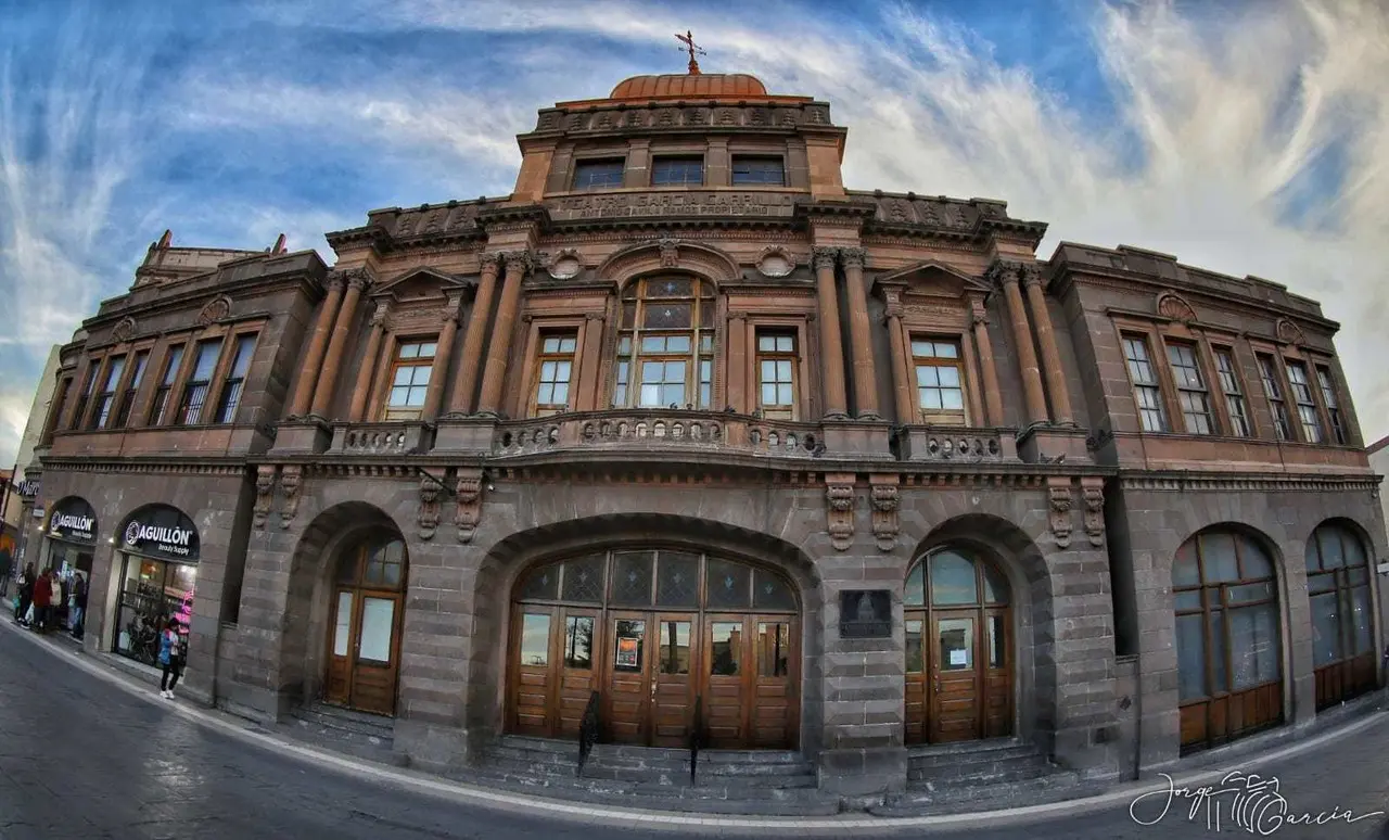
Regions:
M 708 411 L 642 410 L 563 414 L 504 422 L 493 454 L 524 455 L 574 448 L 721 450 L 782 458 L 825 454 L 815 423 L 765 421 Z

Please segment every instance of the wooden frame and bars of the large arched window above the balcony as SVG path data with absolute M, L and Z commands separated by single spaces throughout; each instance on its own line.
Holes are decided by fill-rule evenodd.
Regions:
M 656 282 L 656 280 L 661 280 L 661 279 L 667 279 L 667 278 L 669 278 L 669 279 L 686 279 L 690 283 L 693 283 L 692 285 L 692 290 L 693 292 L 692 292 L 690 297 L 669 297 L 669 299 L 665 299 L 665 297 L 644 297 L 643 296 L 646 293 L 646 285 L 644 283 Z M 636 285 L 636 297 L 629 301 L 629 300 L 626 300 L 625 296 L 628 293 L 628 289 L 631 289 L 633 285 Z M 711 294 L 708 297 L 704 296 L 704 287 L 706 286 L 711 292 Z M 679 301 L 679 303 L 689 301 L 689 305 L 690 305 L 690 326 L 676 326 L 676 328 L 661 328 L 661 326 L 643 328 L 643 326 L 640 326 L 640 324 L 643 321 L 642 315 L 646 312 L 647 304 L 653 304 L 653 303 L 658 304 L 663 300 Z M 633 304 L 633 315 L 632 315 L 632 326 L 631 328 L 625 326 L 625 322 L 624 322 L 625 308 L 626 308 L 628 303 Z M 701 324 L 701 321 L 704 321 L 704 318 L 701 315 L 704 312 L 704 307 L 706 305 L 710 307 L 710 317 L 707 318 L 708 326 L 701 326 L 700 324 Z M 721 307 L 720 307 L 720 299 L 718 299 L 718 289 L 717 289 L 717 286 L 714 286 L 710 280 L 706 280 L 704 278 L 701 278 L 701 276 L 699 276 L 696 274 L 689 274 L 689 272 L 660 272 L 660 274 L 651 274 L 651 275 L 646 275 L 646 276 L 631 279 L 618 292 L 618 296 L 617 296 L 617 311 L 615 311 L 615 325 L 617 325 L 617 329 L 614 330 L 613 355 L 611 355 L 613 369 L 611 369 L 610 376 L 607 378 L 607 380 L 610 383 L 608 400 L 607 400 L 608 405 L 611 408 L 615 408 L 615 410 L 632 410 L 632 411 L 643 411 L 643 410 L 644 411 L 658 411 L 658 410 L 663 410 L 663 408 L 668 408 L 667 404 L 661 404 L 661 405 L 642 405 L 642 400 L 640 400 L 642 362 L 643 361 L 649 361 L 653 357 L 661 358 L 661 360 L 665 360 L 665 361 L 675 361 L 675 360 L 683 358 L 683 360 L 689 360 L 690 367 L 688 368 L 689 373 L 688 373 L 686 380 L 685 380 L 685 401 L 682 404 L 679 404 L 679 408 L 685 408 L 686 405 L 693 405 L 699 411 L 713 411 L 714 410 L 714 396 L 718 393 L 718 390 L 717 390 L 717 386 L 718 386 L 717 371 L 718 371 L 718 361 L 720 361 L 720 358 L 718 358 L 720 357 L 720 353 L 718 353 L 720 351 L 720 346 L 718 346 L 718 317 L 720 317 L 720 311 L 721 311 Z M 678 353 L 654 353 L 654 351 L 651 351 L 649 354 L 649 353 L 646 353 L 646 351 L 642 350 L 642 339 L 647 337 L 647 333 L 665 335 L 665 336 L 685 335 L 685 336 L 688 336 L 690 339 L 690 350 L 689 350 L 689 353 L 685 353 L 685 354 L 678 354 Z M 704 337 L 706 336 L 708 337 L 708 348 L 707 350 L 704 348 Z M 628 346 L 628 353 L 624 354 L 622 353 L 622 342 L 626 340 L 626 339 L 631 340 L 631 344 Z M 626 369 L 626 382 L 625 383 L 619 382 L 621 375 L 622 375 L 621 365 L 624 362 L 628 365 L 628 369 Z M 708 368 L 710 368 L 708 369 L 708 392 L 710 392 L 708 393 L 708 404 L 704 404 L 704 400 L 701 398 L 701 387 L 704 385 L 704 379 L 703 379 L 704 362 L 708 362 Z M 621 401 L 618 400 L 618 389 L 619 387 L 625 389 L 624 393 L 622 393 Z

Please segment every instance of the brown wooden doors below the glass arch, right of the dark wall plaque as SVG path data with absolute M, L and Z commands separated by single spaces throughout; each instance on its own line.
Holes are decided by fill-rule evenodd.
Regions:
M 1013 734 L 1007 607 L 907 611 L 907 743 Z

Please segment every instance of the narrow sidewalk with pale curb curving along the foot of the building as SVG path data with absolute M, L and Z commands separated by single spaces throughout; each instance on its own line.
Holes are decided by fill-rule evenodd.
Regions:
M 471 805 L 471 807 L 481 805 L 486 808 L 500 808 L 504 811 L 514 811 L 514 812 L 529 812 L 529 814 L 539 812 L 547 816 L 554 816 L 561 819 L 592 822 L 594 825 L 603 825 L 604 828 L 639 825 L 647 829 L 679 828 L 682 830 L 699 829 L 699 830 L 713 830 L 713 832 L 774 830 L 778 833 L 785 833 L 785 832 L 797 833 L 800 836 L 804 836 L 807 833 L 817 834 L 822 832 L 829 832 L 838 836 L 843 836 L 851 833 L 918 829 L 928 826 L 968 828 L 968 826 L 983 826 L 983 825 L 993 825 L 1003 822 L 1018 822 L 1026 819 L 1045 819 L 1058 815 L 1074 816 L 1076 814 L 1099 811 L 1099 809 L 1113 809 L 1113 808 L 1126 809 L 1136 796 L 1139 796 L 1140 793 L 1149 793 L 1154 789 L 1151 780 L 1120 783 L 1104 793 L 1079 800 L 1035 804 L 1035 805 L 988 811 L 988 812 L 935 815 L 935 816 L 910 816 L 910 815 L 874 816 L 863 812 L 840 814 L 836 816 L 804 816 L 804 818 L 789 818 L 789 816 L 756 818 L 743 815 L 715 816 L 715 815 L 639 811 L 611 804 L 564 801 L 544 796 L 533 796 L 528 793 L 501 790 L 486 784 L 461 783 L 457 780 L 443 779 L 440 776 L 424 773 L 419 771 L 388 766 L 383 764 L 364 761 L 360 758 L 350 758 L 339 753 L 332 753 L 328 750 L 306 746 L 300 741 L 290 740 L 285 737 L 282 733 L 274 732 L 258 723 L 236 718 L 231 714 L 218 709 L 200 707 L 188 700 L 176 700 L 174 703 L 161 700 L 158 697 L 158 693 L 154 690 L 158 682 L 158 672 L 154 671 L 153 668 L 144 668 L 135 662 L 125 662 L 124 660 L 117 662 L 115 660 L 118 660 L 118 657 L 115 657 L 114 654 L 88 654 L 85 651 L 79 651 L 71 643 L 63 641 L 57 637 L 35 636 L 15 626 L 13 622 L 0 622 L 0 623 L 4 625 L 11 637 L 19 636 L 28 641 L 32 641 L 33 644 L 46 647 L 50 653 L 58 655 L 60 658 L 64 658 L 72 666 L 83 669 L 92 676 L 104 680 L 117 689 L 125 690 L 132 696 L 143 698 L 146 703 L 168 709 L 171 714 L 183 716 L 207 729 L 215 729 L 229 737 L 235 737 L 260 746 L 265 750 L 271 750 L 278 755 L 288 755 L 304 761 L 306 764 L 311 764 L 315 768 L 324 771 L 333 771 L 339 773 L 369 779 L 374 783 L 403 786 L 415 790 L 418 793 L 440 797 L 463 805 Z M 3 636 L 3 633 L 0 633 L 0 636 Z M 1376 703 L 1382 703 L 1382 698 L 1383 693 L 1381 691 L 1376 696 Z M 1274 748 L 1271 751 L 1258 751 L 1257 754 L 1254 754 L 1247 748 L 1243 748 L 1238 759 L 1242 761 L 1245 766 L 1247 766 L 1253 761 L 1267 762 L 1267 761 L 1282 759 L 1289 755 L 1295 755 L 1307 751 L 1310 748 L 1318 747 L 1321 744 L 1325 744 L 1326 741 L 1350 736 L 1356 732 L 1360 732 L 1368 726 L 1381 722 L 1382 719 L 1385 719 L 1385 712 L 1379 709 L 1376 704 L 1364 704 L 1360 716 L 1350 721 L 1342 718 L 1339 726 L 1328 725 L 1324 732 L 1320 732 L 1317 734 L 1308 734 L 1307 730 L 1303 730 L 1301 733 L 1290 733 L 1286 737 L 1296 737 L 1295 743 L 1282 746 L 1281 748 Z M 1290 730 L 1290 728 L 1285 729 Z M 1250 740 L 1253 741 L 1256 739 Z M 1206 754 L 1200 757 L 1200 761 L 1206 765 L 1210 765 L 1220 761 L 1229 762 L 1232 758 L 1233 758 L 1232 753 L 1220 753 L 1220 754 Z M 1193 771 L 1190 768 L 1174 766 L 1168 768 L 1167 772 L 1171 773 L 1174 784 L 1195 787 L 1201 783 L 1218 779 L 1232 769 L 1239 769 L 1239 768 L 1221 766 L 1215 769 Z

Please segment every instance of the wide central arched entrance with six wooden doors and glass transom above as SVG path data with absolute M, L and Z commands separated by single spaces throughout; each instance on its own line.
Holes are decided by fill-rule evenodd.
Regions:
M 513 594 L 507 728 L 571 737 L 592 691 L 603 736 L 683 747 L 790 748 L 800 605 L 779 573 L 678 550 L 543 562 Z

